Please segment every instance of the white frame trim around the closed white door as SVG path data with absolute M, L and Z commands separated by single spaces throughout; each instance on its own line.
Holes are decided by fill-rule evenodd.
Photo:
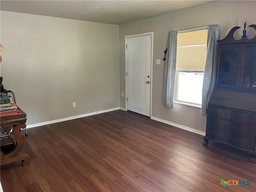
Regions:
M 153 32 L 146 32 L 140 34 L 126 35 L 124 36 L 124 50 L 125 50 L 125 110 L 127 111 L 127 38 L 151 35 L 151 57 L 150 57 L 150 112 L 149 117 L 152 115 L 152 63 L 153 63 Z

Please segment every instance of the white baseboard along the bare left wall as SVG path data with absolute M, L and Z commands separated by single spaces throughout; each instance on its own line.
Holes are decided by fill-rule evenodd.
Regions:
M 116 107 L 116 108 L 111 108 L 111 109 L 106 109 L 106 110 L 101 110 L 101 111 L 95 111 L 95 112 L 91 112 L 91 113 L 86 113 L 86 114 L 81 114 L 81 115 L 76 115 L 76 116 L 71 116 L 71 117 L 51 120 L 51 121 L 45 121 L 45 122 L 30 124 L 30 125 L 27 125 L 26 128 L 29 129 L 29 128 L 33 128 L 33 127 L 39 127 L 39 126 L 43 126 L 43 125 L 48 125 L 48 124 L 68 121 L 68 120 L 72 120 L 72 119 L 78 119 L 78 118 L 92 116 L 92 115 L 96 115 L 96 114 L 100 114 L 100 113 L 106 113 L 106 112 L 110 112 L 110 111 L 115 111 L 115 110 L 118 110 L 118 109 L 122 110 L 122 108 Z

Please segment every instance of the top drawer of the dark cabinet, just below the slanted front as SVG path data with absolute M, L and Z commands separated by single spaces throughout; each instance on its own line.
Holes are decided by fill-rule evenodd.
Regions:
M 238 111 L 225 110 L 221 108 L 209 107 L 207 109 L 207 116 L 213 116 L 220 119 L 238 122 L 244 125 L 256 126 L 256 115 L 246 114 Z

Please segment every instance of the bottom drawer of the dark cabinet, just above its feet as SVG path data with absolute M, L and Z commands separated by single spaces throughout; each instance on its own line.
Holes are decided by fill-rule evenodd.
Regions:
M 256 140 L 254 138 L 240 136 L 226 130 L 213 128 L 211 126 L 206 127 L 206 136 L 212 138 L 213 140 L 231 144 L 241 149 L 255 151 Z

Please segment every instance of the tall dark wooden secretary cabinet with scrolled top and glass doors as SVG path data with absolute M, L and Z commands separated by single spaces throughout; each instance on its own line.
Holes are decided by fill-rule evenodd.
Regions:
M 246 25 L 246 24 L 245 24 Z M 252 155 L 256 163 L 256 36 L 234 40 L 234 27 L 218 40 L 216 82 L 207 108 L 206 136 Z M 250 25 L 256 30 L 256 25 Z

